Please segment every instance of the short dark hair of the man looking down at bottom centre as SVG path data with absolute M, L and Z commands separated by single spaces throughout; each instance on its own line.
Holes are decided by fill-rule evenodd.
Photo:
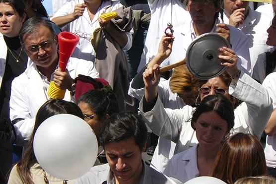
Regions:
M 131 137 L 142 150 L 146 142 L 147 128 L 140 115 L 123 112 L 113 114 L 103 123 L 99 141 L 101 146 L 105 146 L 109 142 L 119 142 Z

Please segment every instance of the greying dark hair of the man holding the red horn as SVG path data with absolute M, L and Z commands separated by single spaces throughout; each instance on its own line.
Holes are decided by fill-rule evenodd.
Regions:
M 35 17 L 29 18 L 28 20 L 26 20 L 20 29 L 19 39 L 20 39 L 21 45 L 24 44 L 24 40 L 23 40 L 24 35 L 29 35 L 29 34 L 34 33 L 35 31 L 37 31 L 37 29 L 40 26 L 47 27 L 50 30 L 50 32 L 52 33 L 53 38 L 54 38 L 54 36 L 56 35 L 56 32 L 52 27 L 51 21 L 48 19 L 42 18 L 42 17 L 35 16 Z

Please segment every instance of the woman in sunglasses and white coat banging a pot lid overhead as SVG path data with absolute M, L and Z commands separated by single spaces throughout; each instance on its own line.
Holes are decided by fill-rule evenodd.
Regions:
M 161 60 L 170 55 L 173 43 L 171 37 L 164 37 L 162 42 L 160 52 L 156 56 Z M 260 139 L 273 110 L 268 92 L 261 84 L 237 68 L 237 56 L 233 50 L 220 48 L 220 51 L 222 54 L 219 58 L 225 61 L 222 65 L 227 66 L 227 70 L 209 79 L 202 86 L 204 88 L 200 90 L 199 99 L 203 100 L 208 95 L 217 93 L 223 94 L 234 107 L 235 125 L 230 133 L 250 133 Z M 164 109 L 157 93 L 159 78 L 158 64 L 144 71 L 145 91 L 139 109 L 141 115 L 148 120 L 147 124 L 151 130 L 175 142 L 174 153 L 180 153 L 198 143 L 195 130 L 188 123 L 195 108 L 184 106 L 180 110 Z M 234 97 L 243 103 L 236 103 Z

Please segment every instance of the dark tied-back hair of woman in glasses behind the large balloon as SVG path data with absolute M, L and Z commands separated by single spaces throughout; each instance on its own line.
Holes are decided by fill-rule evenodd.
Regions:
M 102 89 L 92 89 L 79 97 L 77 104 L 84 102 L 89 105 L 90 109 L 99 117 L 100 120 L 104 115 L 111 116 L 119 112 L 119 104 L 116 95 L 109 85 Z

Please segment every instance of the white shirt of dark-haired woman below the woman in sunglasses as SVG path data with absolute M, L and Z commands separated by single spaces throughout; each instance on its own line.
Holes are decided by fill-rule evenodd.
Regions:
M 182 183 L 200 176 L 197 148 L 198 144 L 186 151 L 174 155 L 169 161 L 164 174 Z

